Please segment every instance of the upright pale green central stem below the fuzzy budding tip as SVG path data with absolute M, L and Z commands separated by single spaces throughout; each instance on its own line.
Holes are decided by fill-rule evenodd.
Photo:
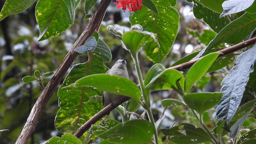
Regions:
M 154 141 L 155 141 L 156 144 L 158 144 L 157 130 L 156 130 L 153 114 L 152 114 L 151 109 L 150 109 L 149 93 L 146 92 L 146 88 L 144 86 L 142 73 L 141 73 L 140 66 L 139 66 L 139 61 L 138 61 L 138 54 L 136 54 L 135 56 L 133 55 L 133 60 L 135 62 L 135 68 L 136 68 L 136 72 L 138 74 L 138 79 L 139 79 L 139 82 L 140 82 L 140 89 L 141 89 L 142 96 L 143 96 L 144 102 L 145 102 L 143 107 L 147 110 L 148 118 L 149 118 L 150 122 L 152 123 L 153 129 L 154 129 Z

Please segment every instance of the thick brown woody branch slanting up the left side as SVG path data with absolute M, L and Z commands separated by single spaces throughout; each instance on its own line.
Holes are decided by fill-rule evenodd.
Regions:
M 78 46 L 81 46 L 82 44 L 84 44 L 85 40 L 87 40 L 93 34 L 94 30 L 98 30 L 110 2 L 111 0 L 102 0 L 100 2 L 96 12 L 94 12 L 92 18 L 90 19 L 88 26 L 79 36 L 79 38 L 76 40 L 73 47 L 71 48 L 71 50 L 68 52 L 68 54 L 66 55 L 66 57 L 64 58 L 60 66 L 58 67 L 56 73 L 54 74 L 50 82 L 47 84 L 47 86 L 44 88 L 39 98 L 36 100 L 36 103 L 34 104 L 30 112 L 30 115 L 27 118 L 26 124 L 16 141 L 16 144 L 26 144 L 26 142 L 28 141 L 28 138 L 34 132 L 36 128 L 36 123 L 40 115 L 42 114 L 42 111 L 46 103 L 52 96 L 54 90 L 60 83 L 60 80 L 63 78 L 64 74 L 67 72 L 68 68 L 71 66 L 74 59 L 78 56 L 78 53 L 74 51 L 74 48 L 77 48 Z

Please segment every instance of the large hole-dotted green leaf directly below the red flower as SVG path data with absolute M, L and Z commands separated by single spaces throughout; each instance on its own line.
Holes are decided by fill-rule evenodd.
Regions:
M 157 44 L 150 43 L 146 44 L 143 50 L 149 60 L 160 63 L 169 53 L 176 38 L 179 16 L 177 10 L 172 8 L 176 5 L 176 0 L 152 0 L 152 2 L 158 9 L 158 16 L 142 6 L 142 10 L 130 13 L 130 22 L 132 25 L 140 24 L 145 30 L 157 34 L 160 48 Z

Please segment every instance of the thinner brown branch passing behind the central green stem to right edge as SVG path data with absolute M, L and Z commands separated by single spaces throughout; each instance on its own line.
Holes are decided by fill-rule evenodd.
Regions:
M 219 55 L 220 56 L 225 56 L 226 54 L 230 54 L 232 52 L 235 52 L 237 50 L 240 50 L 242 48 L 245 48 L 247 46 L 250 46 L 252 44 L 254 44 L 256 42 L 256 37 L 255 38 L 251 38 L 249 40 L 246 40 L 244 42 L 240 42 L 239 44 L 236 44 L 234 46 L 230 46 L 229 48 L 225 48 L 223 50 L 220 50 L 218 52 L 222 53 Z M 185 62 L 183 64 L 179 64 L 177 66 L 173 66 L 167 69 L 176 69 L 176 70 L 180 70 L 180 69 L 187 69 L 190 68 L 194 63 L 196 63 L 198 60 L 200 60 L 201 58 L 198 58 L 196 60 L 192 60 L 190 62 Z M 139 85 L 138 85 L 139 86 Z M 84 123 L 79 129 L 78 131 L 74 134 L 76 137 L 80 138 L 80 136 L 82 136 L 82 134 L 84 134 L 84 132 L 86 132 L 86 130 L 88 130 L 90 128 L 90 126 L 92 124 L 94 124 L 95 122 L 97 122 L 98 120 L 100 120 L 103 116 L 105 116 L 106 114 L 108 114 L 111 110 L 114 110 L 114 108 L 116 108 L 118 105 L 122 104 L 123 102 L 125 102 L 126 100 L 129 100 L 130 98 L 126 97 L 126 96 L 122 96 L 121 98 L 119 98 L 118 100 L 114 101 L 114 106 L 111 106 L 110 104 L 108 106 L 106 106 L 105 108 L 103 108 L 102 110 L 100 110 L 100 112 L 98 112 L 97 114 L 95 114 L 92 118 L 90 118 L 90 120 L 88 120 L 86 123 Z

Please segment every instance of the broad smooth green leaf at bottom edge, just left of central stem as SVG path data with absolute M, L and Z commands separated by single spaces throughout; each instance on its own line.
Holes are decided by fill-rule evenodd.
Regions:
M 124 124 L 118 124 L 108 131 L 95 134 L 109 143 L 122 144 L 153 144 L 153 126 L 146 120 L 129 120 Z

